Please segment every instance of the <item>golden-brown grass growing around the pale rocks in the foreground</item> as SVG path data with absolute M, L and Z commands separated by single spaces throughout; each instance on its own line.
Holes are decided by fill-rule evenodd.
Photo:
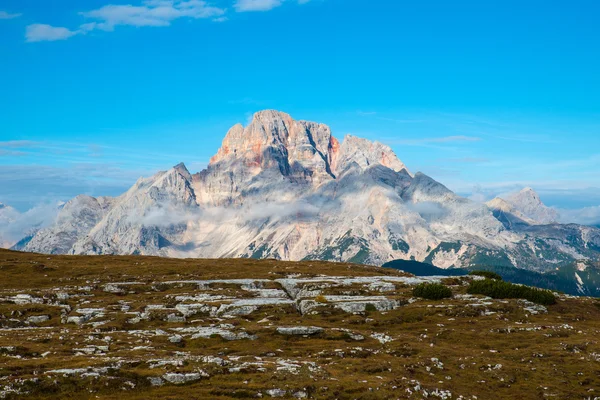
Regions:
M 402 275 L 393 270 L 324 262 L 46 256 L 0 250 L 0 296 L 28 293 L 51 298 L 56 296 L 55 288 L 68 287 L 73 296 L 63 301 L 64 305 L 72 309 L 105 308 L 106 316 L 101 320 L 107 321 L 97 327 L 62 324 L 60 309 L 55 306 L 0 303 L 0 349 L 15 347 L 0 350 L 0 391 L 3 385 L 14 384 L 28 393 L 8 394 L 8 398 L 28 399 L 233 399 L 256 398 L 258 393 L 269 398 L 266 391 L 274 388 L 286 390 L 286 398 L 302 391 L 318 399 L 422 399 L 423 389 L 429 398 L 435 398 L 431 395 L 435 390 L 447 390 L 453 399 L 461 395 L 467 399 L 600 396 L 600 308 L 593 299 L 563 297 L 548 307 L 547 314 L 531 315 L 518 300 L 494 300 L 479 307 L 456 297 L 409 304 L 412 288 L 397 285 L 396 292 L 386 295 L 406 304 L 386 313 L 352 315 L 322 303 L 317 315 L 300 315 L 291 306 L 265 306 L 250 315 L 222 321 L 197 315 L 186 322 L 171 323 L 163 321 L 161 312 L 157 312 L 156 318 L 131 324 L 127 321 L 130 316 L 120 311 L 125 303 L 131 311 L 143 311 L 148 304 L 169 305 L 167 298 L 199 292 L 194 285 L 160 285 L 165 281 L 273 280 L 289 274 Z M 125 294 L 102 290 L 107 283 L 125 281 L 143 285 Z M 453 285 L 455 295 L 465 293 L 462 280 L 446 283 Z M 81 289 L 85 286 L 90 290 Z M 275 282 L 266 287 L 280 288 Z M 229 284 L 215 285 L 211 290 L 250 296 Z M 327 293 L 343 294 L 347 290 L 373 294 L 359 287 L 330 288 Z M 18 321 L 41 314 L 50 315 L 51 320 L 39 324 L 39 328 L 49 329 L 6 329 L 11 323 L 25 326 Z M 68 315 L 75 314 L 71 311 Z M 235 331 L 243 329 L 258 339 L 186 337 L 172 343 L 169 335 L 136 332 L 162 330 L 172 334 L 171 329 L 177 327 L 221 323 L 233 325 Z M 325 331 L 310 337 L 285 336 L 276 332 L 278 326 L 318 326 Z M 340 328 L 365 339 L 356 341 Z M 373 333 L 394 340 L 380 343 L 371 337 Z M 108 337 L 110 341 L 106 341 Z M 74 349 L 87 345 L 108 345 L 109 351 L 75 355 Z M 182 357 L 182 353 L 187 356 Z M 207 363 L 202 360 L 204 356 L 219 357 L 229 364 Z M 178 359 L 181 365 L 152 368 L 151 360 Z M 443 369 L 436 360 L 443 363 Z M 285 372 L 278 370 L 281 361 L 301 366 L 295 373 Z M 54 369 L 105 367 L 118 362 L 120 368 L 98 377 L 50 378 L 45 374 Z M 239 372 L 229 370 L 244 363 Z M 262 363 L 262 367 L 255 363 Z M 167 372 L 198 370 L 210 377 L 162 387 L 152 387 L 147 379 Z M 39 381 L 34 383 L 32 379 Z M 19 380 L 25 380 L 25 386 L 19 386 Z M 420 391 L 415 390 L 417 385 Z

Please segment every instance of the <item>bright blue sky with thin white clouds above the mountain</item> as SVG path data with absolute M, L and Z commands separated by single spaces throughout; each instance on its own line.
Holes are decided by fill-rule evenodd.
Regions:
M 598 15 L 597 1 L 3 0 L 0 201 L 199 171 L 231 125 L 274 108 L 387 143 L 474 199 L 533 186 L 599 206 Z

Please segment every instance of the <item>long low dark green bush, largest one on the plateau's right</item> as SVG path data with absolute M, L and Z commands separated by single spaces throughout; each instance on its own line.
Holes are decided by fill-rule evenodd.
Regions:
M 471 282 L 467 293 L 482 294 L 493 299 L 525 299 L 543 305 L 556 303 L 556 297 L 549 290 L 515 285 L 514 283 L 493 279 Z

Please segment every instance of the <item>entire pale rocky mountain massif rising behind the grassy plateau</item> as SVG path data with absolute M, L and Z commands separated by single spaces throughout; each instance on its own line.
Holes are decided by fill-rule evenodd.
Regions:
M 475 203 L 384 144 L 267 110 L 233 126 L 203 171 L 179 164 L 113 199 L 80 196 L 25 250 L 538 271 L 598 259 L 600 230 L 553 220 L 532 190 Z

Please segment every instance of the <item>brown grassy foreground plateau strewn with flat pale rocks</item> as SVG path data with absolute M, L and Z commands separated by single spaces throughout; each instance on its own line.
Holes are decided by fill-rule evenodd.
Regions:
M 596 299 L 318 261 L 1 250 L 0 273 L 0 398 L 600 396 Z

